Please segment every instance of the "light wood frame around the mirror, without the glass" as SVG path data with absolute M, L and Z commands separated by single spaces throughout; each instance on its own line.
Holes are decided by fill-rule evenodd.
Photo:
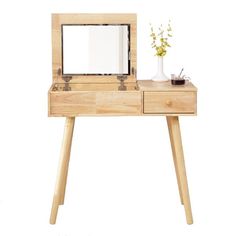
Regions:
M 128 24 L 130 25 L 130 75 L 125 82 L 136 82 L 137 15 L 136 14 L 52 14 L 52 73 L 53 82 L 62 78 L 62 25 L 66 24 Z M 72 83 L 119 83 L 117 75 L 73 75 Z

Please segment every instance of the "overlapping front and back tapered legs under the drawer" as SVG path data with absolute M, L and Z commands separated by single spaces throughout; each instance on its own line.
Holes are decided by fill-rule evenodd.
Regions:
M 184 163 L 184 153 L 181 140 L 181 132 L 178 116 L 167 116 L 167 124 L 169 128 L 176 176 L 179 185 L 181 202 L 184 204 L 185 215 L 188 224 L 193 223 L 191 203 L 188 190 L 188 182 Z

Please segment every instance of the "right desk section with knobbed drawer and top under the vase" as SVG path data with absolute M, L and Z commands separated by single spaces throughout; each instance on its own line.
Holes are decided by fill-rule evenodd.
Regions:
M 189 81 L 174 86 L 171 81 L 138 80 L 143 92 L 143 115 L 196 115 L 197 88 Z

